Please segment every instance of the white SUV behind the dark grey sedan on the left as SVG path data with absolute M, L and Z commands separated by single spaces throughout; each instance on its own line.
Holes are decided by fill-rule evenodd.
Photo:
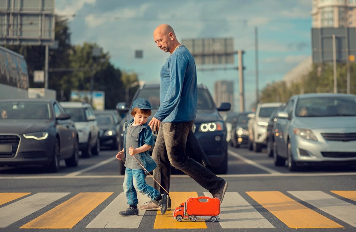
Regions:
M 60 102 L 64 110 L 72 117 L 79 135 L 79 151 L 83 157 L 99 155 L 99 127 L 93 108 L 85 102 Z

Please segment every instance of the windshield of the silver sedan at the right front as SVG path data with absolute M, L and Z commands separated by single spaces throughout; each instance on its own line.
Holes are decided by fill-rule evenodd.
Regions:
M 301 98 L 297 102 L 295 115 L 298 117 L 356 116 L 356 97 Z

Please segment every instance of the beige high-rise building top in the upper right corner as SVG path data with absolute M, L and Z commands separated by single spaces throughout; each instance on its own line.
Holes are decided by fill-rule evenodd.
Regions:
M 313 0 L 312 27 L 356 27 L 356 0 Z

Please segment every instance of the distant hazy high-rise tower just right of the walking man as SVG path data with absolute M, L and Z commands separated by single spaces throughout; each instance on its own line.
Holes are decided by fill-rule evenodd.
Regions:
M 234 111 L 234 81 L 216 81 L 214 85 L 214 101 L 216 107 L 220 107 L 222 102 L 230 102 L 230 111 Z

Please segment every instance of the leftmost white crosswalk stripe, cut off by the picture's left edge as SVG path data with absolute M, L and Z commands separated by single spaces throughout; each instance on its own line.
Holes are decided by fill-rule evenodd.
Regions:
M 0 208 L 0 228 L 11 225 L 20 219 L 42 209 L 70 193 L 36 193 Z

